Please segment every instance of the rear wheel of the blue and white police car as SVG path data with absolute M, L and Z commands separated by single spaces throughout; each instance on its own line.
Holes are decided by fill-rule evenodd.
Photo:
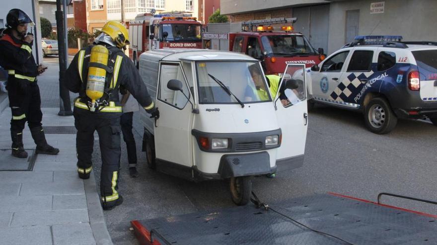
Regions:
M 365 107 L 364 114 L 367 128 L 375 134 L 387 134 L 397 124 L 397 117 L 384 98 L 373 98 Z

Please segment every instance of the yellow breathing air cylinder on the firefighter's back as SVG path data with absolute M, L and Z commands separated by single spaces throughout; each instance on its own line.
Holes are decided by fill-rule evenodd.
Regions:
M 102 45 L 91 48 L 90 63 L 100 63 L 108 65 L 109 50 Z M 90 111 L 95 111 L 98 107 L 96 100 L 103 97 L 105 92 L 106 70 L 90 65 L 88 68 L 88 78 L 86 82 L 86 96 L 91 99 Z

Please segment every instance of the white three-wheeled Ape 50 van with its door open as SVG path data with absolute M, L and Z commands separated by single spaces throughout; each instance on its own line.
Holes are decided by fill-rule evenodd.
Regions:
M 141 54 L 140 74 L 160 111 L 158 119 L 141 112 L 148 166 L 196 182 L 229 179 L 232 200 L 245 205 L 252 176 L 303 164 L 304 68 L 288 64 L 275 85 L 274 79 L 268 84 L 258 60 L 241 53 L 157 49 Z M 271 96 L 269 85 L 284 89 Z

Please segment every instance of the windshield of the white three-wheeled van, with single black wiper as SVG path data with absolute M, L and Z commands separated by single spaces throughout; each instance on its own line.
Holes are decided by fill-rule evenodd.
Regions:
M 201 104 L 272 101 L 258 62 L 198 61 L 196 69 Z

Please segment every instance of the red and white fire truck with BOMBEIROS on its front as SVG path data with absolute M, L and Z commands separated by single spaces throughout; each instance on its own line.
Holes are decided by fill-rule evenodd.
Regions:
M 139 66 L 140 54 L 152 49 L 202 48 L 202 24 L 183 12 L 144 13 L 129 23 L 129 56 Z

